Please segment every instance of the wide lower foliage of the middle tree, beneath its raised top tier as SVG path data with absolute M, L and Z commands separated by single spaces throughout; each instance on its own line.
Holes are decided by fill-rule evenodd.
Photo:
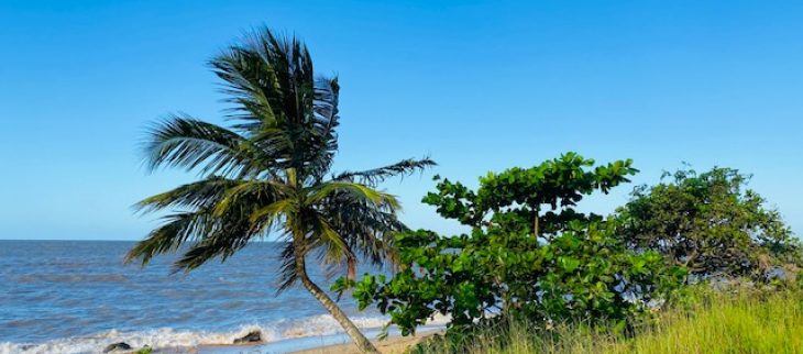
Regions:
M 398 237 L 403 270 L 392 278 L 340 278 L 333 288 L 353 287 L 361 309 L 375 305 L 404 335 L 442 314 L 451 317 L 449 334 L 461 336 L 514 317 L 623 329 L 685 276 L 657 252 L 627 251 L 608 224 L 569 228 L 549 244 L 499 230 L 454 237 L 419 230 Z

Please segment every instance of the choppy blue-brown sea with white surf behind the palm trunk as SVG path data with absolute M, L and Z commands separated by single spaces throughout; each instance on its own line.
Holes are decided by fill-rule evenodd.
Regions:
M 224 263 L 211 261 L 189 274 L 174 274 L 170 263 L 178 255 L 156 257 L 145 267 L 123 265 L 134 244 L 0 241 L 0 354 L 102 353 L 119 342 L 154 353 L 237 353 L 220 345 L 252 331 L 267 344 L 244 353 L 348 342 L 300 285 L 276 294 L 279 243 L 252 243 Z M 328 289 L 326 269 L 308 267 Z M 349 296 L 339 305 L 367 333 L 375 335 L 388 321 L 375 309 L 359 311 Z

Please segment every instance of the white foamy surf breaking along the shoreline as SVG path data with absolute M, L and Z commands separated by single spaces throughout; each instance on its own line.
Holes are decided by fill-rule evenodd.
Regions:
M 387 318 L 355 317 L 361 329 L 376 329 L 387 323 Z M 279 320 L 270 324 L 244 324 L 231 331 L 174 330 L 162 328 L 147 331 L 111 330 L 95 335 L 59 339 L 43 343 L 0 343 L 0 354 L 98 354 L 108 345 L 125 342 L 134 350 L 145 346 L 154 352 L 189 353 L 198 345 L 229 345 L 235 339 L 251 332 L 260 332 L 265 342 L 307 336 L 327 336 L 342 333 L 340 324 L 329 314 L 301 320 Z

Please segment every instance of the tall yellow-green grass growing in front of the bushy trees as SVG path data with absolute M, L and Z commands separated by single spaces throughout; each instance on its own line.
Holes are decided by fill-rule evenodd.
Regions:
M 459 352 L 465 354 L 678 354 L 678 353 L 802 353 L 803 294 L 697 294 L 695 305 L 663 311 L 658 321 L 624 338 L 581 325 L 536 329 L 521 323 L 485 331 Z M 540 333 L 540 334 L 536 334 Z M 507 343 L 506 345 L 501 345 Z M 426 354 L 453 352 L 444 342 L 430 342 Z

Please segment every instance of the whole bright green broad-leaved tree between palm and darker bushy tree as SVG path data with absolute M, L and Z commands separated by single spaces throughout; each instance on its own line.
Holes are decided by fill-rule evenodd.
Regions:
M 635 173 L 629 161 L 585 170 L 593 165 L 570 153 L 532 168 L 488 174 L 477 191 L 443 180 L 424 201 L 471 225 L 471 235 L 405 233 L 396 243 L 402 272 L 391 279 L 341 278 L 333 288 L 355 288 L 360 308 L 376 305 L 403 334 L 436 313 L 451 316 L 448 327 L 455 334 L 516 314 L 625 325 L 685 274 L 658 253 L 626 251 L 613 234 L 614 224 L 600 217 L 570 208 L 554 212 L 594 190 L 607 192 Z M 541 204 L 552 210 L 539 215 Z M 544 237 L 534 235 L 539 224 Z M 496 316 L 488 318 L 491 312 Z

